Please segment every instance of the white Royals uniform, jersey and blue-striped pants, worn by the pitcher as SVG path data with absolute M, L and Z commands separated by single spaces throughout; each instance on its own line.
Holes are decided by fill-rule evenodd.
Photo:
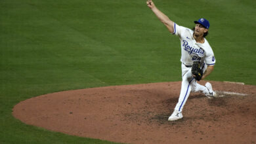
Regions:
M 209 93 L 209 90 L 205 86 L 198 84 L 192 76 L 191 67 L 193 62 L 201 62 L 201 68 L 204 72 L 207 65 L 215 65 L 216 60 L 213 50 L 206 39 L 204 39 L 204 43 L 196 43 L 192 29 L 177 24 L 174 24 L 173 28 L 173 34 L 179 36 L 181 40 L 182 84 L 179 101 L 175 107 L 175 110 L 181 112 L 191 90 L 193 92 L 203 92 L 203 94 Z

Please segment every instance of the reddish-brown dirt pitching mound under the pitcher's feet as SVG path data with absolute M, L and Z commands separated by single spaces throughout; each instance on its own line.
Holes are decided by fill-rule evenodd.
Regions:
M 174 122 L 167 118 L 181 82 L 56 92 L 18 103 L 13 115 L 47 130 L 121 143 L 256 143 L 256 86 L 211 83 L 219 97 L 191 93 L 184 118 Z

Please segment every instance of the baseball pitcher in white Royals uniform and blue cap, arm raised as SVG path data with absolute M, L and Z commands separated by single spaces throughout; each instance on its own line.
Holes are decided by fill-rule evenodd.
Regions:
M 191 91 L 203 92 L 208 98 L 217 96 L 209 82 L 206 82 L 205 86 L 197 83 L 213 71 L 216 62 L 213 50 L 205 39 L 210 24 L 205 18 L 200 18 L 194 21 L 196 24 L 194 29 L 188 29 L 171 21 L 163 12 L 158 10 L 152 0 L 147 0 L 146 5 L 156 14 L 169 32 L 177 35 L 181 41 L 181 93 L 173 113 L 168 118 L 170 121 L 178 120 L 183 117 L 182 109 Z

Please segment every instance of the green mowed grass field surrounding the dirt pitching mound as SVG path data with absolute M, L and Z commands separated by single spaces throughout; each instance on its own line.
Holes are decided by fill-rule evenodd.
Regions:
M 211 24 L 211 81 L 256 84 L 256 1 L 154 1 L 177 24 Z M 181 81 L 178 37 L 146 1 L 1 0 L 0 143 L 111 143 L 28 126 L 12 107 L 34 96 L 98 86 Z

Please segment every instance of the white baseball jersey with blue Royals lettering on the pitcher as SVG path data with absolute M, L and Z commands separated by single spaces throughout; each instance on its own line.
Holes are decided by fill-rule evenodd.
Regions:
M 215 65 L 213 50 L 206 39 L 204 39 L 204 43 L 196 43 L 192 29 L 179 26 L 176 23 L 174 23 L 173 29 L 173 34 L 179 36 L 181 40 L 181 62 L 184 65 L 192 65 L 194 61 Z

